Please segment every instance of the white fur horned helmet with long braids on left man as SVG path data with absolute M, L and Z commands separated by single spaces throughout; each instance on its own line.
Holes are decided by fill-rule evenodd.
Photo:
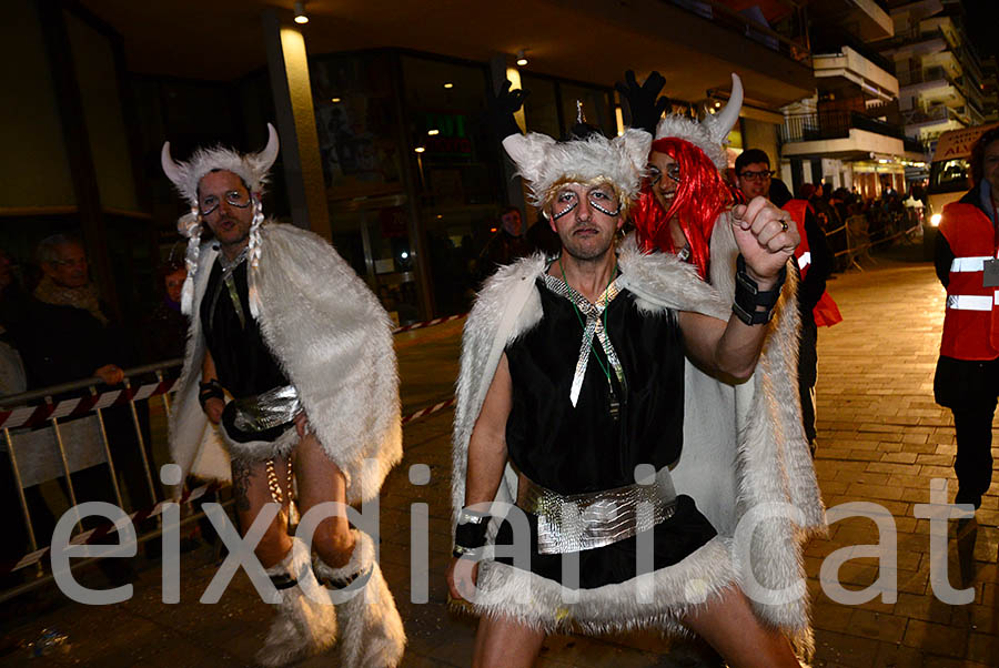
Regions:
M 232 172 L 243 180 L 250 190 L 253 201 L 253 222 L 250 225 L 249 242 L 249 271 L 250 284 L 250 312 L 253 317 L 260 313 L 260 298 L 256 290 L 256 269 L 260 265 L 260 225 L 263 223 L 263 206 L 261 196 L 268 183 L 268 174 L 271 165 L 278 159 L 278 131 L 268 123 L 268 145 L 259 153 L 240 154 L 224 146 L 198 149 L 188 162 L 176 162 L 170 155 L 170 142 L 163 143 L 160 152 L 160 162 L 163 172 L 173 182 L 178 193 L 191 205 L 190 213 L 185 213 L 176 221 L 176 229 L 188 237 L 188 252 L 184 262 L 188 266 L 188 277 L 181 292 L 181 311 L 191 315 L 194 306 L 194 273 L 198 271 L 198 255 L 200 253 L 201 232 L 203 223 L 201 211 L 198 206 L 198 184 L 211 171 L 221 170 Z

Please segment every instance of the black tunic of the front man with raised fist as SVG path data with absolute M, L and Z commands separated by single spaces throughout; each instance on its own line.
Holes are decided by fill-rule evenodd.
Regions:
M 604 366 L 610 368 L 594 336 L 579 398 L 569 388 L 583 340 L 583 325 L 572 303 L 537 282 L 543 317 L 506 347 L 513 381 L 513 405 L 506 427 L 511 462 L 529 479 L 562 494 L 578 494 L 635 483 L 635 466 L 659 469 L 679 456 L 684 427 L 684 352 L 672 313 L 643 314 L 632 293 L 623 291 L 607 307 L 607 330 L 620 360 L 627 392 L 620 419 L 608 411 Z M 585 318 L 584 318 L 585 322 Z M 615 394 L 622 388 L 612 372 Z M 562 581 L 562 555 L 537 554 L 537 517 L 532 529 L 531 570 Z M 512 528 L 501 527 L 497 545 L 512 543 Z M 654 567 L 680 561 L 716 535 L 688 496 L 676 513 L 653 529 Z M 500 561 L 513 564 L 511 559 Z M 636 575 L 635 538 L 579 553 L 579 586 L 595 588 Z

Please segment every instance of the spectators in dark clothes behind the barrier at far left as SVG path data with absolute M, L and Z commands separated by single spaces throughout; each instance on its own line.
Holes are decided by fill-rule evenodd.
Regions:
M 165 267 L 161 273 L 162 302 L 141 318 L 141 325 L 128 326 L 110 315 L 111 311 L 91 280 L 87 251 L 78 237 L 70 234 L 49 236 L 38 244 L 32 261 L 20 265 L 0 250 L 0 404 L 21 403 L 4 402 L 4 396 L 87 379 L 92 381 L 90 386 L 56 388 L 50 397 L 29 403 L 82 397 L 92 391 L 118 388 L 124 381 L 124 370 L 143 362 L 179 357 L 186 335 L 186 318 L 181 315 L 179 305 L 184 277 L 182 264 Z M 142 336 L 134 335 L 138 326 L 144 331 Z M 89 424 L 84 424 L 88 421 Z M 153 496 L 159 493 L 150 490 L 143 463 L 143 458 L 149 462 L 155 478 L 147 402 L 135 402 L 134 414 L 128 404 L 113 405 L 102 411 L 100 423 L 93 415 L 71 415 L 61 419 L 60 425 L 63 437 L 73 441 L 74 452 L 69 453 L 68 463 L 78 503 L 117 503 L 112 475 L 129 507 L 149 507 L 157 500 Z M 104 436 L 113 469 L 105 464 Z M 12 437 L 28 449 L 46 447 L 53 441 L 48 426 L 18 429 Z M 81 455 L 82 451 L 98 454 Z M 30 454 L 27 449 L 22 453 Z M 12 510 L 20 506 L 20 499 L 6 448 L 2 459 L 0 503 Z M 38 468 L 31 457 L 26 459 L 19 460 L 22 477 L 32 466 Z M 99 463 L 93 464 L 94 460 Z M 53 466 L 42 465 L 41 468 L 51 470 Z M 59 466 L 54 469 L 62 470 Z M 30 479 L 53 479 L 51 473 L 28 475 Z M 65 478 L 60 475 L 54 479 L 63 497 L 70 498 Z M 60 504 L 53 506 L 39 484 L 26 483 L 23 492 L 36 537 L 44 545 L 56 526 Z M 9 561 L 28 550 L 29 540 L 19 510 L 6 512 L 3 516 L 2 529 L 7 539 L 0 550 L 0 560 Z M 93 525 L 84 520 L 84 526 Z M 130 574 L 121 573 L 118 560 L 101 564 L 113 581 L 130 577 Z

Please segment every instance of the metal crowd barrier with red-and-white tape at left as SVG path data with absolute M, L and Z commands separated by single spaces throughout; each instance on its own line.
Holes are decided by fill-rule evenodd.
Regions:
M 395 328 L 393 334 L 432 327 L 463 316 L 464 314 L 457 314 L 414 323 Z M 17 581 L 18 578 L 13 578 L 14 585 L 12 586 L 0 584 L 0 603 L 41 587 L 53 579 L 47 567 L 48 559 L 44 558 L 50 549 L 48 542 L 41 544 L 39 542 L 37 518 L 32 516 L 32 505 L 34 505 L 36 509 L 39 509 L 39 504 L 44 504 L 44 509 L 47 512 L 50 512 L 50 509 L 40 492 L 32 495 L 32 499 L 26 494 L 28 489 L 37 488 L 44 483 L 59 480 L 62 495 L 64 496 L 62 500 L 68 502 L 72 510 L 81 502 L 95 500 L 79 497 L 78 485 L 74 484 L 73 476 L 79 476 L 80 472 L 84 469 L 104 465 L 111 483 L 110 488 L 113 493 L 114 502 L 137 525 L 137 542 L 142 544 L 162 534 L 162 526 L 159 520 L 154 527 L 149 526 L 150 522 L 145 522 L 159 518 L 167 499 L 155 482 L 159 479 L 159 475 L 154 470 L 155 463 L 150 459 L 153 448 L 147 438 L 140 414 L 145 409 L 142 403 L 152 401 L 162 403 L 164 416 L 170 414 L 170 393 L 182 363 L 182 360 L 176 358 L 129 368 L 124 371 L 124 379 L 121 385 L 115 387 L 107 387 L 101 378 L 92 377 L 0 397 L 0 428 L 3 429 L 0 453 L 6 453 L 9 458 L 20 505 L 20 517 L 23 519 L 29 544 L 29 550 L 20 558 L 0 563 L 0 578 L 22 575 L 23 577 L 20 579 L 26 580 Z M 103 392 L 99 391 L 101 387 L 104 388 Z M 453 398 L 441 401 L 404 416 L 402 422 L 405 425 L 447 409 L 453 405 Z M 127 503 L 127 495 L 122 494 L 121 482 L 119 480 L 119 474 L 124 472 L 121 470 L 113 454 L 113 451 L 118 449 L 119 455 L 121 455 L 121 449 L 112 445 L 113 436 L 109 437 L 107 413 L 109 409 L 123 406 L 128 406 L 132 431 L 132 443 L 128 444 L 128 446 L 138 449 L 138 457 L 133 462 L 138 460 L 141 464 L 141 470 L 134 470 L 133 466 L 133 470 L 128 472 L 128 475 L 142 477 L 141 487 L 148 492 L 149 498 L 152 499 L 152 503 L 144 505 L 144 507 L 135 507 L 135 499 L 130 498 L 131 495 L 129 495 L 129 503 Z M 120 418 L 121 416 L 117 417 Z M 114 435 L 120 437 L 122 434 L 119 429 Z M 151 425 L 149 435 L 153 436 Z M 160 462 L 159 464 L 167 464 L 167 462 Z M 0 466 L 3 466 L 2 462 L 0 462 Z M 223 486 L 211 484 L 184 492 L 181 498 L 178 499 L 185 506 L 184 518 L 181 520 L 181 525 L 188 525 L 203 518 L 204 513 L 192 512 L 190 504 L 221 487 Z M 231 504 L 232 500 L 230 499 L 223 503 L 223 506 Z M 10 522 L 12 519 L 11 508 L 4 507 L 3 510 L 9 517 L 8 522 Z M 58 520 L 58 517 L 54 519 Z M 70 539 L 71 545 L 94 543 L 115 530 L 110 524 L 85 528 L 79 515 L 74 517 L 74 520 L 75 527 Z M 140 533 L 139 525 L 142 524 L 147 526 Z M 72 559 L 71 568 L 75 570 L 95 560 L 98 559 Z M 29 570 L 32 566 L 34 567 L 33 571 Z M 28 575 L 29 573 L 33 574 L 33 577 Z M 8 588 L 3 589 L 4 586 Z

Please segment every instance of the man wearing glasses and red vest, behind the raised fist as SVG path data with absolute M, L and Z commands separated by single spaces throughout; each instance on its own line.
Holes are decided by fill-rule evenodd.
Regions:
M 751 200 L 763 196 L 791 214 L 798 225 L 801 243 L 795 251 L 801 281 L 798 283 L 798 312 L 801 315 L 800 348 L 798 350 L 798 393 L 801 398 L 801 421 L 805 436 L 815 454 L 815 384 L 818 376 L 818 326 L 835 325 L 842 320 L 836 303 L 826 293 L 826 280 L 833 273 L 833 251 L 805 200 L 791 199 L 779 179 L 771 179 L 770 159 L 759 149 L 739 154 L 735 164 L 736 183 Z

